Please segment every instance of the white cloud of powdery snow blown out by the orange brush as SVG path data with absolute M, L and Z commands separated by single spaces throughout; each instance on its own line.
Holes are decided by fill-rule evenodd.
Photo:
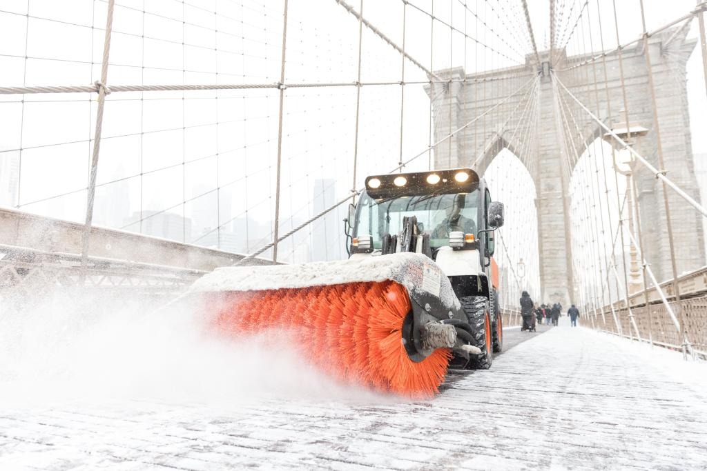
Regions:
M 130 294 L 108 301 L 95 293 L 52 297 L 28 311 L 0 312 L 0 403 L 62 398 L 380 402 L 373 393 L 316 371 L 287 345 L 272 342 L 275 337 L 283 335 L 229 340 L 214 333 L 203 313 L 177 304 L 154 310 Z

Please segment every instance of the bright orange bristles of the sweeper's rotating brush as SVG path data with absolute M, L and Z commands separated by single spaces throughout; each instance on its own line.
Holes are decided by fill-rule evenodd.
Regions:
M 252 335 L 285 329 L 308 360 L 338 379 L 410 398 L 438 393 L 451 358 L 438 349 L 413 362 L 402 342 L 410 311 L 396 282 L 358 282 L 305 289 L 238 293 L 216 324 L 228 333 Z

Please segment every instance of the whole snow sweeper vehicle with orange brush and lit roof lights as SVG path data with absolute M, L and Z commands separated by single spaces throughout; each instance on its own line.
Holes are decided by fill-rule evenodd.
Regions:
M 349 260 L 218 268 L 187 294 L 225 335 L 272 335 L 341 381 L 430 397 L 503 347 L 493 230 L 472 169 L 375 175 L 349 207 Z

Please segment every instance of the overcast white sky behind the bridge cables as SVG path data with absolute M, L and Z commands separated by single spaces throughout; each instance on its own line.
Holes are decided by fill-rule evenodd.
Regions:
M 612 2 L 598 2 L 604 45 L 611 48 L 616 45 Z M 549 42 L 549 2 L 528 3 L 535 40 L 543 49 Z M 109 84 L 279 81 L 281 1 L 117 0 L 116 4 Z M 351 4 L 360 8 L 360 1 Z M 489 70 L 522 64 L 530 52 L 520 1 L 415 0 L 411 4 L 433 11 L 469 36 L 450 34 L 440 22 L 431 28 L 429 16 L 408 6 L 405 49 L 428 68 Z M 559 37 L 568 35 L 573 21 L 566 18 L 575 18 L 582 4 L 558 2 L 564 5 Z M 619 37 L 625 42 L 641 32 L 638 0 L 617 4 Z M 645 0 L 649 30 L 690 11 L 694 4 L 693 0 Z M 581 23 L 568 42 L 569 54 L 600 49 L 596 6 L 597 1 L 590 1 L 594 44 L 577 40 L 588 37 L 586 23 Z M 0 85 L 81 85 L 97 80 L 105 10 L 104 0 L 4 0 Z M 366 0 L 363 13 L 394 42 L 403 44 L 402 1 Z M 695 30 L 693 25 L 692 37 Z M 334 0 L 289 2 L 286 82 L 353 82 L 357 47 L 358 22 Z M 705 152 L 707 136 L 699 130 L 706 124 L 707 102 L 699 49 L 688 68 L 693 146 L 696 152 Z M 401 77 L 400 55 L 364 28 L 361 81 L 400 81 Z M 404 80 L 424 81 L 426 76 L 406 61 Z M 397 165 L 400 95 L 399 85 L 361 90 L 358 186 L 366 174 L 387 172 Z M 17 158 L 23 148 L 21 209 L 81 220 L 95 95 L 25 95 L 24 103 L 22 98 L 0 97 L 0 148 L 6 150 L 0 157 Z M 113 218 L 116 227 L 141 209 L 171 208 L 170 212 L 190 217 L 192 198 L 221 187 L 219 197 L 231 202 L 228 214 L 223 213 L 227 205 L 221 205 L 221 224 L 246 214 L 269 224 L 274 211 L 277 112 L 276 90 L 113 93 L 106 105 L 99 183 L 123 180 L 99 189 L 98 207 L 116 198 L 128 201 L 122 205 L 127 214 Z M 429 100 L 422 85 L 405 87 L 402 114 L 402 158 L 407 160 L 426 148 L 430 139 Z M 353 87 L 286 91 L 284 219 L 303 220 L 312 214 L 315 179 L 334 179 L 337 198 L 346 196 L 352 184 L 355 117 Z M 427 165 L 428 158 L 421 157 L 408 169 Z M 30 204 L 63 193 L 69 194 Z M 215 226 L 216 208 L 213 219 Z

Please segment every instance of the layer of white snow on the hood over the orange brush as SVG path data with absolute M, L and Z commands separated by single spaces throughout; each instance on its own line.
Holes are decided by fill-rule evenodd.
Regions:
M 424 279 L 430 274 L 439 286 L 438 293 L 432 294 L 438 294 L 447 308 L 460 309 L 459 299 L 439 266 L 427 256 L 411 252 L 298 265 L 217 268 L 197 280 L 189 292 L 278 290 L 392 280 L 410 293 L 421 293 L 423 285 L 430 287 L 429 279 Z

